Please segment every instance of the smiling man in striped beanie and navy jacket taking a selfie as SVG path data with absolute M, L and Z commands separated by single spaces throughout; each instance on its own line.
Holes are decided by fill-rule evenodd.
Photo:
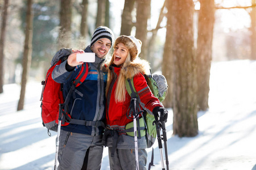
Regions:
M 102 122 L 105 118 L 105 87 L 107 73 L 102 66 L 114 41 L 114 34 L 108 27 L 98 27 L 93 33 L 90 45 L 84 51 L 76 50 L 68 59 L 56 66 L 52 78 L 63 83 L 63 97 L 67 97 L 72 80 L 80 71 L 83 62 L 76 61 L 78 53 L 95 53 L 95 62 L 88 63 L 88 75 L 75 88 L 68 103 L 69 114 L 77 120 Z M 86 66 L 86 65 L 84 65 Z M 98 125 L 98 126 L 97 126 Z M 61 126 L 58 169 L 101 169 L 102 133 L 104 127 L 97 125 L 69 124 Z M 87 152 L 87 156 L 85 158 Z M 85 162 L 84 166 L 83 163 Z

